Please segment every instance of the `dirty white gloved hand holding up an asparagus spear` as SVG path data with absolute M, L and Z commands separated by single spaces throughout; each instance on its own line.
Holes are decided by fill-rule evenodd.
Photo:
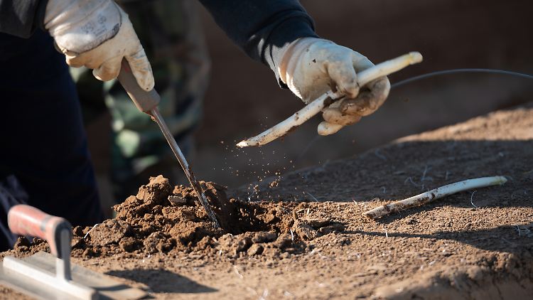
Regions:
M 357 72 L 374 66 L 360 53 L 321 38 L 299 38 L 282 54 L 278 71 L 281 80 L 308 104 L 328 90 L 339 91 L 345 98 L 324 109 L 325 122 L 342 126 L 359 122 L 375 112 L 387 99 L 387 77 L 374 80 L 360 90 Z M 328 132 L 333 134 L 340 128 Z

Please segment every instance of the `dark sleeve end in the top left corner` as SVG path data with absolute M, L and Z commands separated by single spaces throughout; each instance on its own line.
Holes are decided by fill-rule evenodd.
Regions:
M 0 0 L 0 32 L 29 38 L 43 24 L 48 0 Z

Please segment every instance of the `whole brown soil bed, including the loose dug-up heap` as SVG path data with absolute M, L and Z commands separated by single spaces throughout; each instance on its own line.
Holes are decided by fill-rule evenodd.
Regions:
M 532 163 L 533 103 L 235 191 L 203 182 L 222 229 L 192 188 L 157 176 L 114 207 L 116 218 L 76 227 L 72 260 L 156 299 L 530 299 Z M 509 181 L 362 216 L 496 175 Z M 1 256 L 38 250 L 45 242 L 21 238 Z

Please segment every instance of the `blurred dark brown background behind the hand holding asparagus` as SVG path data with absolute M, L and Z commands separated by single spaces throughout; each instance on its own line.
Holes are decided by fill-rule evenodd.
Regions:
M 392 75 L 393 85 L 416 75 L 456 68 L 533 73 L 532 1 L 301 3 L 315 19 L 320 36 L 357 50 L 374 63 L 411 50 L 421 52 L 424 63 Z M 321 120 L 316 117 L 283 140 L 261 148 L 236 149 L 236 142 L 277 124 L 300 109 L 302 103 L 289 90 L 278 87 L 271 70 L 233 45 L 205 9 L 200 8 L 200 14 L 211 75 L 203 124 L 195 134 L 197 148 L 192 164 L 198 178 L 206 181 L 242 186 L 533 100 L 533 82 L 522 77 L 492 73 L 438 75 L 394 87 L 375 114 L 333 136 L 316 134 Z M 102 116 L 87 127 L 99 173 L 106 172 L 109 164 L 109 147 L 102 140 L 108 122 L 109 116 Z

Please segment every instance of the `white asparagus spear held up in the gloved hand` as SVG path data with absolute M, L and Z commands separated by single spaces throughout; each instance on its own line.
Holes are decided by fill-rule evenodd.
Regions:
M 383 63 L 379 63 L 372 68 L 363 70 L 360 73 L 357 73 L 357 83 L 360 87 L 366 85 L 368 82 L 375 80 L 382 76 L 390 75 L 394 72 L 402 70 L 408 65 L 413 65 L 415 63 L 420 63 L 422 61 L 422 55 L 419 52 L 411 52 L 394 58 L 392 60 L 387 60 Z M 315 114 L 321 112 L 322 109 L 328 107 L 331 103 L 336 100 L 340 100 L 343 95 L 338 92 L 328 91 L 323 95 L 318 97 L 313 102 L 310 102 L 306 107 L 303 107 L 298 112 L 293 114 L 291 117 L 285 119 L 283 122 L 267 129 L 266 131 L 253 136 L 249 139 L 244 139 L 237 144 L 238 147 L 247 147 L 247 146 L 262 146 L 268 144 L 274 139 L 277 139 L 281 136 L 284 136 L 291 130 L 294 130 L 296 127 L 300 126 L 308 119 L 311 119 Z M 330 129 L 328 129 L 330 130 Z M 333 129 L 334 130 L 334 129 Z M 337 129 L 338 131 L 338 129 Z M 333 132 L 332 132 L 333 133 Z

